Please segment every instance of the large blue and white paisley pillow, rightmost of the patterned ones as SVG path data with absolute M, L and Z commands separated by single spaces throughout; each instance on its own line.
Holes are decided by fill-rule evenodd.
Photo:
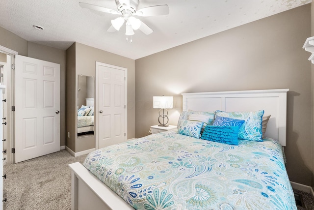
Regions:
M 262 117 L 264 110 L 255 112 L 222 112 L 216 111 L 215 118 L 226 117 L 245 122 L 239 129 L 238 139 L 262 142 Z

